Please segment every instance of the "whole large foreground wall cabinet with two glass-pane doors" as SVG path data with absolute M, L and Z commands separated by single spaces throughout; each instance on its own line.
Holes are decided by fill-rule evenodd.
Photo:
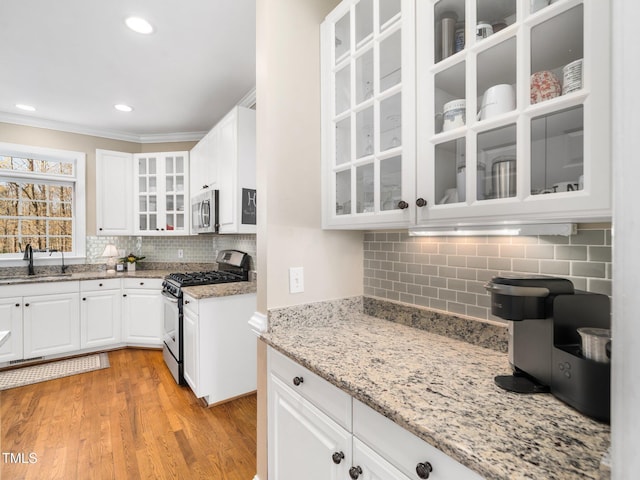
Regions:
M 325 228 L 610 220 L 610 8 L 340 3 L 322 24 Z

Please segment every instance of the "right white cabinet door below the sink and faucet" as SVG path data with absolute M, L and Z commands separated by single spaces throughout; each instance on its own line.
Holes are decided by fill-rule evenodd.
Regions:
M 23 297 L 25 358 L 80 349 L 78 282 L 57 285 L 60 288 L 56 293 Z

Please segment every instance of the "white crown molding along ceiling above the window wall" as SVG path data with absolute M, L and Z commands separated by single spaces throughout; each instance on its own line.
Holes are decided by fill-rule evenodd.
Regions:
M 34 118 L 6 112 L 0 112 L 0 122 L 23 125 L 25 127 L 46 128 L 61 132 L 91 135 L 93 137 L 110 138 L 112 140 L 121 140 L 133 143 L 197 142 L 207 134 L 207 132 L 177 132 L 136 135 L 132 133 L 102 130 L 99 128 L 91 128 L 72 123 L 57 122 L 55 120 Z

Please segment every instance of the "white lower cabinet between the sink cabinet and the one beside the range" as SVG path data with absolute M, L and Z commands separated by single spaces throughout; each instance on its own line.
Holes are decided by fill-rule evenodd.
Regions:
M 80 348 L 114 345 L 121 340 L 120 279 L 80 283 Z

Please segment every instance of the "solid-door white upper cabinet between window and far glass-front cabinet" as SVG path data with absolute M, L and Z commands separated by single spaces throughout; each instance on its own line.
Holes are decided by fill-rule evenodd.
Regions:
M 96 233 L 133 234 L 133 156 L 96 150 Z

